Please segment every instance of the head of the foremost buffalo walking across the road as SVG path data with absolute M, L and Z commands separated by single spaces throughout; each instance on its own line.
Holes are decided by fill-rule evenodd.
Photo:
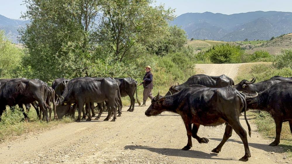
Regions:
M 163 111 L 166 111 L 166 109 L 163 106 L 163 102 L 165 101 L 165 97 L 159 95 L 155 96 L 153 100 L 151 101 L 150 107 L 145 111 L 146 116 L 156 116 Z

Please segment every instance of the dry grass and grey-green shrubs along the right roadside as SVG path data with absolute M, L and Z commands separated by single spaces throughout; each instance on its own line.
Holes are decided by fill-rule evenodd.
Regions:
M 257 82 L 267 80 L 272 76 L 279 75 L 284 77 L 292 76 L 291 61 L 292 48 L 281 51 L 273 63 L 262 64 L 246 64 L 239 68 L 239 75 L 235 79 L 235 83 L 243 79 L 250 81 L 254 76 Z M 258 131 L 267 138 L 274 138 L 276 136 L 276 128 L 274 119 L 267 112 L 254 113 L 250 112 L 255 119 L 253 120 L 258 127 Z M 283 123 L 281 132 L 281 142 L 279 146 L 288 151 L 289 156 L 292 156 L 292 135 L 288 122 Z

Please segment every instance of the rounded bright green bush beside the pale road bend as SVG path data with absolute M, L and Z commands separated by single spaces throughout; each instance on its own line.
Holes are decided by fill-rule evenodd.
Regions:
M 241 55 L 244 50 L 240 46 L 231 46 L 230 44 L 217 45 L 206 51 L 205 55 L 210 57 L 212 63 L 241 63 Z

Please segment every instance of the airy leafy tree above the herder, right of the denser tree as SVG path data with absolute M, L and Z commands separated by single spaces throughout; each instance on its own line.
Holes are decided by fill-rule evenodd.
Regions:
M 153 39 L 167 34 L 173 10 L 150 6 L 152 0 L 108 0 L 99 26 L 100 44 L 111 48 L 117 61 L 143 55 Z

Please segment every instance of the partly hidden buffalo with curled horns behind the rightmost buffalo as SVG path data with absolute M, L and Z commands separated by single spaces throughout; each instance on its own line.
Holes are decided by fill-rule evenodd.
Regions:
M 237 89 L 238 91 L 245 91 L 248 93 L 255 93 L 255 92 L 259 93 L 259 92 L 264 91 L 267 88 L 270 88 L 274 84 L 281 82 L 279 80 L 269 79 L 269 80 L 261 81 L 259 83 L 255 83 L 255 80 L 256 80 L 255 77 L 253 77 L 251 81 L 242 80 L 241 82 L 233 86 L 233 88 Z

